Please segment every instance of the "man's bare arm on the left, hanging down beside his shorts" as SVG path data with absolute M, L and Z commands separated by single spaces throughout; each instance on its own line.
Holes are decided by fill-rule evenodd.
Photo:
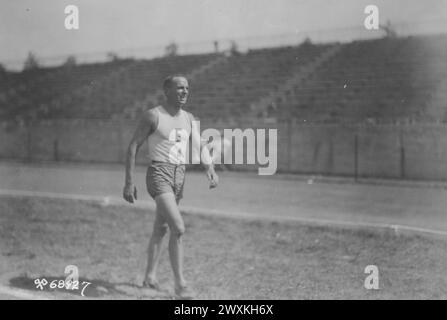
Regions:
M 124 183 L 123 197 L 126 201 L 133 203 L 137 199 L 137 188 L 133 180 L 135 170 L 135 159 L 143 142 L 155 130 L 157 124 L 157 114 L 151 110 L 143 114 L 138 123 L 137 129 L 129 143 L 126 154 L 126 177 Z

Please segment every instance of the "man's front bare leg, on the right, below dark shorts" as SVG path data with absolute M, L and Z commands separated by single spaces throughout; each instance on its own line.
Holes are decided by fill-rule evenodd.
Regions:
M 169 225 L 169 258 L 174 272 L 176 292 L 186 287 L 183 276 L 183 244 L 182 236 L 185 232 L 185 224 L 177 206 L 173 193 L 163 193 L 155 198 L 160 214 Z

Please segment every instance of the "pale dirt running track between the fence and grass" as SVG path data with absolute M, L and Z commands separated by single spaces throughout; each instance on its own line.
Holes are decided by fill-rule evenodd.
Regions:
M 145 188 L 145 168 L 136 184 L 141 203 L 153 204 Z M 447 190 L 416 184 L 355 184 L 303 177 L 261 177 L 253 173 L 220 172 L 217 189 L 208 189 L 201 172 L 187 173 L 182 206 L 209 214 L 298 219 L 346 224 L 399 225 L 447 234 Z M 0 193 L 25 190 L 121 197 L 121 165 L 26 164 L 0 162 Z M 125 203 L 124 200 L 123 204 Z

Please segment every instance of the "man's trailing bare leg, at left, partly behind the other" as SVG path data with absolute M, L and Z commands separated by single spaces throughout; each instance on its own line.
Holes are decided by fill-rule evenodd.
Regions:
M 168 224 L 157 206 L 152 236 L 147 251 L 147 268 L 144 285 L 157 288 L 157 267 L 160 261 L 163 238 L 168 231 Z

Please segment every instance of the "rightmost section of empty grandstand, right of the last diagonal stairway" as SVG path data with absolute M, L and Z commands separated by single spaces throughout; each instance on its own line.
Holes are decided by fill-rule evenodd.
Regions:
M 445 36 L 355 41 L 276 103 L 281 118 L 310 122 L 436 122 L 446 105 L 431 99 L 446 77 Z

